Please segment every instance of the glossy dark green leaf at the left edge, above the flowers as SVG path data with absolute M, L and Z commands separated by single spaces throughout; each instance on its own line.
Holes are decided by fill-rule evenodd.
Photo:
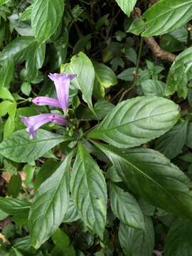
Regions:
M 20 36 L 9 43 L 0 53 L 0 62 L 14 59 L 15 63 L 20 63 L 28 58 L 33 48 L 33 36 Z

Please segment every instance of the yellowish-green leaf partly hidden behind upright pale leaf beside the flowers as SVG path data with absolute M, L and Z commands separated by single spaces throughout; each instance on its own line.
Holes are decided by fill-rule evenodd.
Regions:
M 117 85 L 117 78 L 114 72 L 107 65 L 102 63 L 93 63 L 95 68 L 95 81 L 93 87 L 93 95 L 96 99 L 105 97 L 105 88 Z

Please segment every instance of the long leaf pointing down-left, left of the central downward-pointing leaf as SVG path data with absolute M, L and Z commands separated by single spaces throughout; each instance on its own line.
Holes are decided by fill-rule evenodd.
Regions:
M 73 152 L 36 191 L 28 219 L 31 245 L 36 249 L 55 233 L 68 209 L 72 157 Z

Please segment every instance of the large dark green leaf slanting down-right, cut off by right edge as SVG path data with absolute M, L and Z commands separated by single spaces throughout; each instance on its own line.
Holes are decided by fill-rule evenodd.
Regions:
M 124 183 L 154 206 L 192 219 L 190 181 L 177 166 L 153 149 L 120 149 L 95 143 L 112 161 Z

